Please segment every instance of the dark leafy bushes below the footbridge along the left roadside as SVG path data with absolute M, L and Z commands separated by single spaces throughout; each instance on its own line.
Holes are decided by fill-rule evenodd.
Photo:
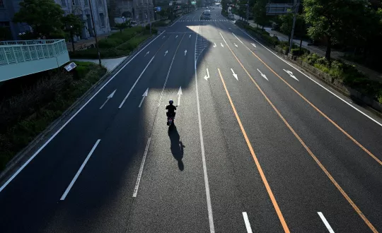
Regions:
M 0 102 L 0 170 L 106 73 L 97 64 L 76 64 L 76 69 L 89 68 L 83 78 L 74 80 L 71 73 L 57 72 Z

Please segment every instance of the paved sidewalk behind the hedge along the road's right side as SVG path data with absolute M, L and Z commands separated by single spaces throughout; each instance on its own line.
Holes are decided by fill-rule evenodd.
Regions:
M 237 16 L 235 15 L 235 19 L 239 19 L 240 16 Z M 257 24 L 255 22 L 253 22 L 253 20 L 249 20 L 248 23 L 256 28 L 257 27 Z M 259 26 L 260 27 L 260 26 Z M 277 38 L 280 40 L 280 41 L 288 41 L 288 36 L 287 35 L 284 35 L 282 34 L 281 32 L 277 32 L 277 31 L 274 31 L 272 30 L 272 28 L 267 28 L 267 27 L 264 27 L 264 30 L 266 30 L 267 32 L 270 33 L 271 36 L 275 35 L 277 36 Z M 300 46 L 300 40 L 296 40 L 294 39 L 293 40 L 294 44 L 296 44 L 297 46 Z M 320 56 L 325 56 L 325 52 L 326 52 L 326 47 L 317 47 L 317 46 L 313 46 L 313 45 L 308 45 L 308 43 L 310 42 L 307 42 L 307 41 L 304 41 L 302 42 L 302 45 L 301 47 L 304 47 L 306 49 L 308 49 L 309 51 L 311 52 L 314 52 L 316 54 L 319 54 Z M 330 56 L 333 58 L 333 59 L 338 59 L 340 61 L 343 61 L 347 64 L 350 64 L 350 65 L 353 65 L 355 66 L 359 71 L 361 71 L 362 73 L 364 73 L 366 76 L 369 76 L 370 79 L 372 80 L 376 80 L 378 82 L 382 82 L 382 73 L 378 73 L 377 71 L 373 71 L 371 70 L 370 68 L 367 68 L 366 66 L 362 66 L 360 64 L 357 64 L 355 63 L 354 61 L 348 61 L 346 59 L 343 59 L 342 56 L 344 56 L 345 53 L 344 52 L 340 52 L 340 51 L 335 51 L 332 49 L 332 52 L 330 53 Z

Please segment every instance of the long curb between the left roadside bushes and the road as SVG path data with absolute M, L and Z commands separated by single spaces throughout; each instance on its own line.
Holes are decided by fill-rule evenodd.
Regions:
M 32 157 L 33 153 L 35 153 L 41 145 L 43 145 L 49 138 L 52 136 L 57 129 L 62 126 L 66 122 L 67 119 L 73 116 L 77 109 L 81 107 L 83 102 L 86 102 L 89 98 L 91 98 L 92 94 L 98 91 L 100 87 L 106 83 L 109 78 L 111 78 L 117 71 L 119 71 L 126 63 L 129 61 L 129 58 L 136 54 L 142 46 L 145 46 L 149 41 L 151 41 L 156 36 L 151 36 L 139 46 L 134 49 L 126 59 L 123 59 L 120 64 L 115 66 L 112 71 L 108 71 L 103 75 L 96 83 L 94 83 L 91 88 L 86 90 L 85 93 L 78 100 L 76 100 L 71 106 L 64 111 L 64 113 L 55 119 L 47 128 L 38 134 L 33 141 L 31 141 L 25 148 L 23 148 L 20 152 L 18 152 L 6 165 L 3 171 L 0 172 L 0 186 L 2 186 L 13 174 L 19 169 L 23 164 Z

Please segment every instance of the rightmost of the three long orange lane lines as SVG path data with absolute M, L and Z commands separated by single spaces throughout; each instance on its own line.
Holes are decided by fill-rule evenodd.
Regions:
M 259 56 L 257 56 L 252 50 L 250 50 L 250 48 L 248 48 L 245 44 L 244 46 L 253 54 L 253 56 L 255 56 L 257 59 L 259 59 L 259 61 L 262 62 L 262 64 L 264 64 L 265 66 L 267 66 L 267 68 L 272 71 L 272 73 L 274 73 L 275 76 L 277 76 L 279 79 L 281 79 L 285 84 L 287 84 L 287 86 L 289 86 L 289 88 L 291 88 L 291 90 L 294 90 L 294 92 L 296 92 L 297 95 L 299 95 L 303 100 L 305 100 L 305 102 L 307 102 L 309 105 L 311 105 L 311 107 L 313 107 L 313 109 L 315 109 L 319 114 L 321 114 L 321 116 L 325 117 L 325 119 L 327 119 L 332 125 L 334 125 L 337 129 L 339 129 L 342 133 L 345 134 L 345 136 L 347 136 L 347 138 L 349 138 L 350 140 L 352 140 L 356 145 L 359 146 L 359 148 L 361 148 L 362 150 L 364 150 L 364 152 L 366 152 L 369 156 L 371 156 L 374 160 L 376 160 L 376 162 L 378 162 L 379 165 L 382 165 L 382 161 L 378 159 L 378 157 L 376 157 L 376 155 L 374 155 L 373 153 L 371 153 L 369 150 L 367 150 L 363 145 L 361 145 L 361 143 L 359 143 L 357 140 L 355 140 L 355 138 L 353 138 L 352 136 L 350 136 L 349 133 L 347 133 L 347 131 L 345 131 L 344 129 L 341 128 L 341 126 L 337 125 L 335 123 L 335 121 L 333 121 L 332 119 L 330 119 L 325 113 L 323 113 L 320 109 L 318 109 L 318 107 L 316 107 L 316 105 L 314 105 L 312 102 L 310 102 L 308 99 L 306 99 L 306 97 L 304 97 L 298 90 L 294 89 L 294 87 L 292 87 L 288 82 L 287 80 L 284 80 L 284 78 L 282 78 L 281 76 L 279 76 L 279 74 L 277 74 L 272 68 L 270 68 L 270 66 L 268 66 L 264 61 L 262 61 L 262 59 L 260 59 Z M 349 103 L 347 103 L 349 104 Z

